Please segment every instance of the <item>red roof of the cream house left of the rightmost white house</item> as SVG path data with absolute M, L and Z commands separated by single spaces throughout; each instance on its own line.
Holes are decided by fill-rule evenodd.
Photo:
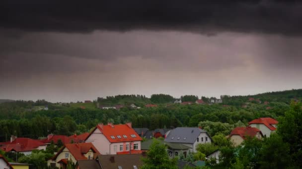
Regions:
M 245 139 L 246 136 L 254 137 L 257 133 L 263 136 L 262 132 L 255 127 L 236 127 L 230 132 L 229 136 L 240 135 L 241 138 Z

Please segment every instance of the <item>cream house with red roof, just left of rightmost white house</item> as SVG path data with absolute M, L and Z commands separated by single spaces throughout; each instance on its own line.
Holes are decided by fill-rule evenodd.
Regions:
M 263 138 L 262 132 L 255 127 L 236 127 L 230 134 L 229 138 L 234 146 L 240 145 L 247 137 Z

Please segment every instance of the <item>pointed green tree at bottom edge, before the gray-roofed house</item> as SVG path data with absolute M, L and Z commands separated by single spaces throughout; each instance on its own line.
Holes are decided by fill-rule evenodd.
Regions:
M 166 146 L 153 138 L 147 158 L 142 159 L 141 169 L 177 169 L 177 158 L 169 159 Z

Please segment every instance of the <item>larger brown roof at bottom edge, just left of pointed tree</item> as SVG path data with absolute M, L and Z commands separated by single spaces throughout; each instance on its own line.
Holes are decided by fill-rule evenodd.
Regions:
M 123 155 L 99 155 L 97 156 L 102 169 L 133 169 L 133 166 L 140 168 L 143 166 L 142 154 L 123 154 Z

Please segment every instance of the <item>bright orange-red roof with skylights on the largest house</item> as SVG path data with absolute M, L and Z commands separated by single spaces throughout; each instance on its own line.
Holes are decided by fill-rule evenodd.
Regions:
M 96 128 L 98 128 L 111 143 L 143 140 L 131 127 L 131 123 L 127 123 L 125 125 L 112 125 L 110 123 L 108 125 L 98 124 L 91 131 L 88 137 L 95 131 Z M 120 136 L 120 138 L 118 136 Z

